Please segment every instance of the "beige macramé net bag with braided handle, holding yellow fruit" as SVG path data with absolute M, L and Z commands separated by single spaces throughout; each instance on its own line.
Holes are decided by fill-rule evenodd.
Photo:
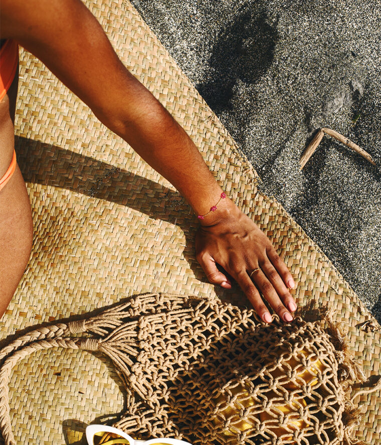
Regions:
M 357 443 L 350 389 L 365 378 L 339 326 L 329 328 L 300 317 L 264 324 L 254 310 L 216 300 L 135 296 L 91 318 L 31 331 L 0 351 L 1 431 L 7 445 L 16 443 L 8 399 L 13 366 L 36 350 L 65 347 L 111 358 L 127 393 L 127 411 L 114 426 L 136 438 Z

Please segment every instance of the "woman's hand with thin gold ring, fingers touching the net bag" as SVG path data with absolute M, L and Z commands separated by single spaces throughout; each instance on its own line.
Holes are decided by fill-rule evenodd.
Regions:
M 238 282 L 262 320 L 271 322 L 271 315 L 258 289 L 284 321 L 292 320 L 289 311 L 296 304 L 287 288 L 295 286 L 291 273 L 269 238 L 229 199 L 201 220 L 196 253 L 209 281 L 231 287 L 217 269 L 216 263 L 220 264 Z

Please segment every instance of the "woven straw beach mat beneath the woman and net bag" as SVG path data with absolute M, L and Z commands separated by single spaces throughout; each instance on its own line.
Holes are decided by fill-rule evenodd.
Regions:
M 311 317 L 337 310 L 368 376 L 378 374 L 379 325 L 319 247 L 260 179 L 216 115 L 127 1 L 87 1 L 131 72 L 183 126 L 227 194 L 274 243 L 291 270 L 299 306 Z M 209 284 L 195 258 L 197 218 L 165 179 L 93 116 L 36 58 L 21 50 L 16 151 L 33 210 L 29 266 L 1 320 L 3 339 L 54 319 L 131 295 L 165 292 L 245 306 L 238 287 Z M 296 161 L 295 161 L 296 162 Z M 10 381 L 13 431 L 20 443 L 79 443 L 85 426 L 112 423 L 125 403 L 101 354 L 42 350 Z M 379 392 L 358 438 L 379 443 Z

